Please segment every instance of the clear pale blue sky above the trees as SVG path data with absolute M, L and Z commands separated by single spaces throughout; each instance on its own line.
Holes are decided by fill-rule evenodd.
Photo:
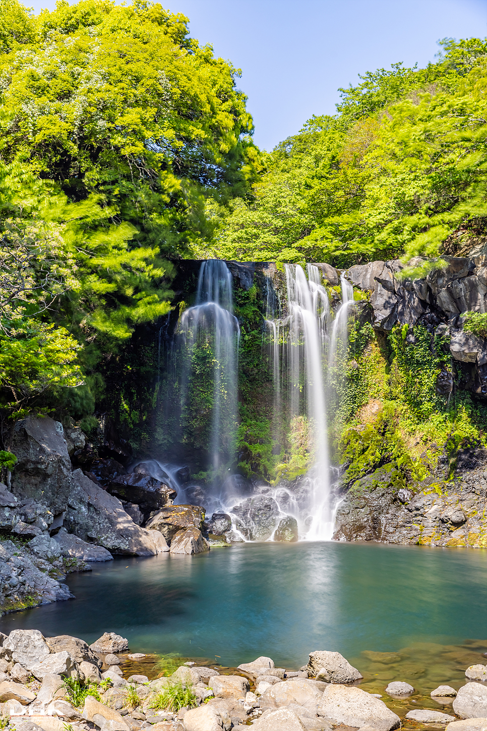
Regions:
M 30 5 L 31 2 L 26 2 Z M 437 40 L 487 36 L 487 0 L 161 0 L 191 36 L 242 69 L 256 143 L 267 150 L 312 114 L 333 114 L 339 87 L 396 61 L 434 61 Z M 55 7 L 35 1 L 34 11 Z

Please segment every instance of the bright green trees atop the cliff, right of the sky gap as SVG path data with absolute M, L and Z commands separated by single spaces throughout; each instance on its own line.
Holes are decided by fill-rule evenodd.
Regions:
M 213 255 L 348 266 L 436 257 L 486 228 L 487 40 L 442 42 L 426 69 L 393 64 L 342 90 L 277 145 L 252 200 L 210 201 Z

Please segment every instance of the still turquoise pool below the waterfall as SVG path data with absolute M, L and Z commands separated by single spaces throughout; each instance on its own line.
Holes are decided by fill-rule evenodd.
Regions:
M 201 656 L 228 666 L 267 655 L 291 669 L 307 662 L 310 651 L 329 649 L 355 659 L 372 680 L 396 666 L 377 670 L 362 651 L 487 640 L 483 550 L 245 543 L 201 556 L 117 558 L 70 575 L 67 583 L 75 601 L 5 616 L 0 630 L 35 628 L 88 642 L 114 631 L 129 638 L 131 651 Z M 473 648 L 482 662 L 487 641 Z M 418 653 L 431 661 L 435 655 L 432 645 Z

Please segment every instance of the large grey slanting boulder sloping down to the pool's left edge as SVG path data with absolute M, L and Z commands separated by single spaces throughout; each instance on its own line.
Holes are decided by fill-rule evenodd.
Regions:
M 85 477 L 80 469 L 72 474 L 72 491 L 64 523 L 69 532 L 84 541 L 104 546 L 126 556 L 158 553 L 151 531 L 136 526 L 120 500 Z

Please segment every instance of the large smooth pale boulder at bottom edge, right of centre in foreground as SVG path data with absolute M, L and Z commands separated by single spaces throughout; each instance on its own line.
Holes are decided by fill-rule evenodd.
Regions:
M 318 713 L 332 719 L 335 724 L 356 728 L 368 725 L 377 731 L 395 729 L 401 722 L 386 703 L 355 686 L 329 685 L 323 693 Z

